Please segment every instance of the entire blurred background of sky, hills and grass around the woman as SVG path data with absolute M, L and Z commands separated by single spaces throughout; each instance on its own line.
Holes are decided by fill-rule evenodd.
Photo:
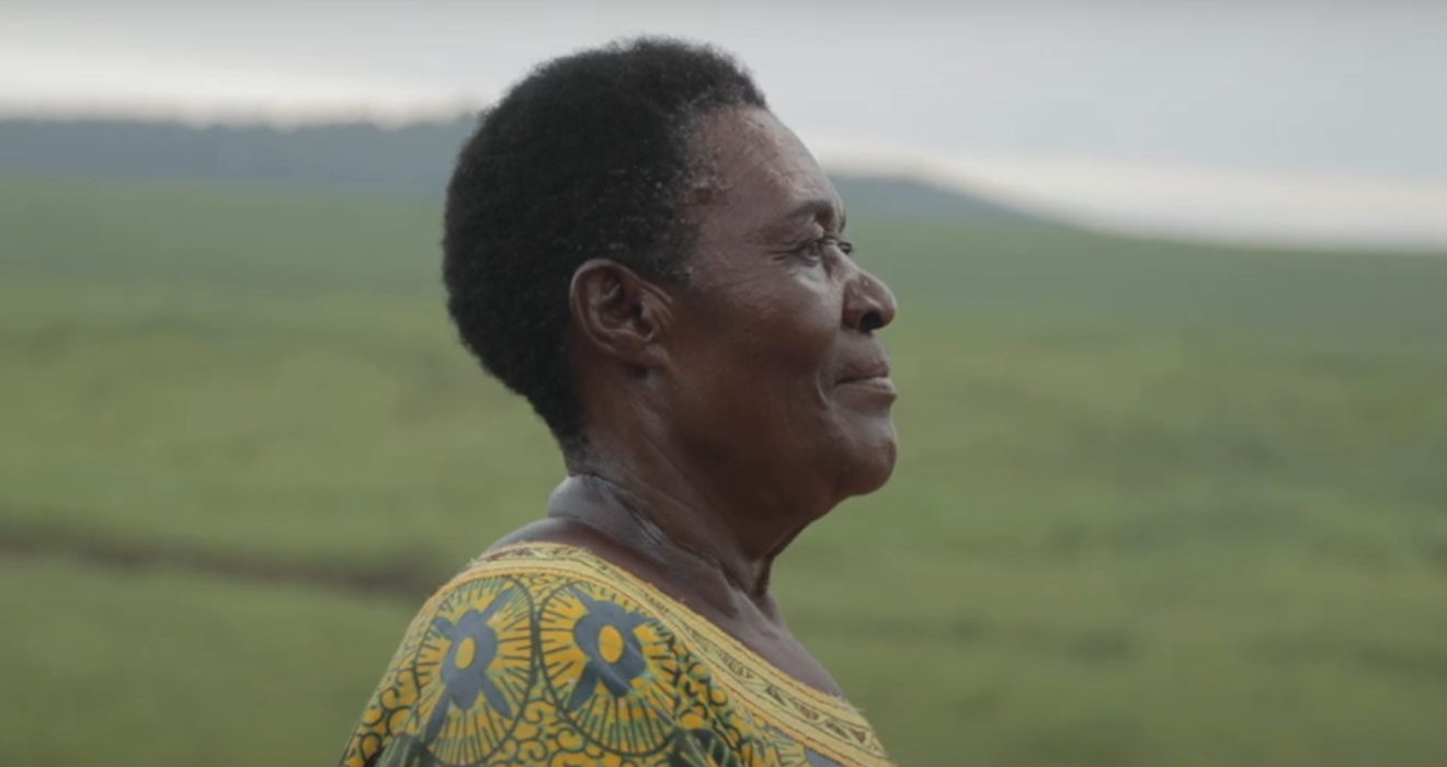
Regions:
M 10 0 L 0 764 L 330 764 L 561 465 L 454 342 L 527 69 L 748 64 L 894 288 L 901 457 L 781 560 L 901 767 L 1447 760 L 1447 6 Z

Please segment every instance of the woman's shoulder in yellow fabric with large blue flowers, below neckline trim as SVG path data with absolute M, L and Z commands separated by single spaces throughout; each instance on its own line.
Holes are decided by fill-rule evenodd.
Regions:
M 750 729 L 645 595 L 566 554 L 493 553 L 428 599 L 343 764 L 667 764 L 680 732 Z

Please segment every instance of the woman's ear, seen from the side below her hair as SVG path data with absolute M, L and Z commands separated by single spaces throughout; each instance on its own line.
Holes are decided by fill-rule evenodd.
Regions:
M 671 302 L 663 288 L 611 259 L 585 262 L 569 287 L 569 308 L 585 343 L 638 368 L 667 360 L 661 342 Z

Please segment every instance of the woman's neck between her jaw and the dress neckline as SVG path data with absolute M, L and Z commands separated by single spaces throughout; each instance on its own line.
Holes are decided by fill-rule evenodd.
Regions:
M 586 457 L 569 459 L 570 476 L 554 491 L 548 517 L 583 524 L 697 585 L 702 599 L 726 612 L 739 596 L 767 603 L 774 559 L 805 522 L 761 514 L 739 492 L 747 488 L 721 492 L 699 479 L 708 473 L 686 470 L 677 452 L 632 447 L 590 440 Z

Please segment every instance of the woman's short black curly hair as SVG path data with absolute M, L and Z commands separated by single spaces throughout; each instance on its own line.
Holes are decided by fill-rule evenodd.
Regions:
M 564 450 L 583 428 L 563 343 L 573 272 L 606 256 L 683 281 L 695 232 L 682 208 L 703 172 L 690 129 L 726 107 L 768 109 L 732 56 L 635 38 L 532 69 L 463 143 L 443 227 L 447 310 Z

